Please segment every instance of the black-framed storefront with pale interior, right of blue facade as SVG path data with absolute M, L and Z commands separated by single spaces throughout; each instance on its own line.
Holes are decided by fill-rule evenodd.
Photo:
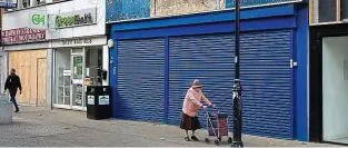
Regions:
M 310 26 L 310 140 L 348 145 L 348 23 Z

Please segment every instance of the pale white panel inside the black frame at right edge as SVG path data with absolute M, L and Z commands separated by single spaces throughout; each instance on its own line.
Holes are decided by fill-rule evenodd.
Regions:
M 348 137 L 348 37 L 322 39 L 322 137 Z

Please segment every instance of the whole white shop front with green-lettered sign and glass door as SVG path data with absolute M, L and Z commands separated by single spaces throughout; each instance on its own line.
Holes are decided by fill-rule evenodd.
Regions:
M 73 0 L 48 6 L 48 11 L 52 107 L 87 110 L 87 86 L 108 85 L 105 4 Z

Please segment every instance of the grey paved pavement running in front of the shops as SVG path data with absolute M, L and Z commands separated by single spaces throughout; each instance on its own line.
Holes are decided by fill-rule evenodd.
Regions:
M 207 131 L 199 130 L 201 141 L 185 141 L 176 126 L 127 120 L 90 120 L 86 112 L 21 107 L 13 124 L 0 125 L 1 147 L 217 147 L 206 144 Z M 211 138 L 212 139 L 212 138 Z M 335 147 L 255 136 L 242 137 L 245 147 Z M 218 147 L 230 147 L 227 138 Z

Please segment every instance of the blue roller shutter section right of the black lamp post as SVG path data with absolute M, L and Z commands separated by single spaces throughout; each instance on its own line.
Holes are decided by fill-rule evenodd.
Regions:
M 290 30 L 241 34 L 243 132 L 291 139 Z

